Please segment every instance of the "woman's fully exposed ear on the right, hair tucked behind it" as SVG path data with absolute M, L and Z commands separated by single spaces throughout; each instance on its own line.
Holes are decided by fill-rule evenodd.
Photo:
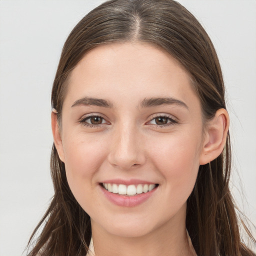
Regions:
M 228 128 L 228 113 L 224 108 L 220 108 L 216 111 L 213 119 L 206 124 L 203 148 L 199 158 L 200 165 L 206 164 L 220 155 L 225 146 Z

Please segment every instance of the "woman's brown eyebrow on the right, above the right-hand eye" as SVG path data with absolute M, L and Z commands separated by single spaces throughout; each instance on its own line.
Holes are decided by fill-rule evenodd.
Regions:
M 186 103 L 172 97 L 144 98 L 140 103 L 141 108 L 150 107 L 150 106 L 159 106 L 159 105 L 178 105 L 188 109 L 188 106 L 186 105 Z

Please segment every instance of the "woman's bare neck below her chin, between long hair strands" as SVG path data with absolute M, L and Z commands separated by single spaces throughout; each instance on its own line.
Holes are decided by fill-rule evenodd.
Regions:
M 177 214 L 164 225 L 141 236 L 120 236 L 97 226 L 91 220 L 95 256 L 194 255 L 189 246 L 185 215 Z

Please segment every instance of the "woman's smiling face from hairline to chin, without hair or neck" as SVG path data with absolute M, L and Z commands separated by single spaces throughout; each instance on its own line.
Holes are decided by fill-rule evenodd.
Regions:
M 60 137 L 92 229 L 139 236 L 185 221 L 203 123 L 189 75 L 169 54 L 143 43 L 89 51 L 71 73 Z

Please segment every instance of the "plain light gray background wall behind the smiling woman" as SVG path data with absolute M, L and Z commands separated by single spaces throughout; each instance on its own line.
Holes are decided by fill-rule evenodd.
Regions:
M 21 255 L 53 194 L 51 84 L 66 36 L 100 2 L 0 0 L 0 256 Z M 256 1 L 180 2 L 218 52 L 231 118 L 232 192 L 256 223 Z

